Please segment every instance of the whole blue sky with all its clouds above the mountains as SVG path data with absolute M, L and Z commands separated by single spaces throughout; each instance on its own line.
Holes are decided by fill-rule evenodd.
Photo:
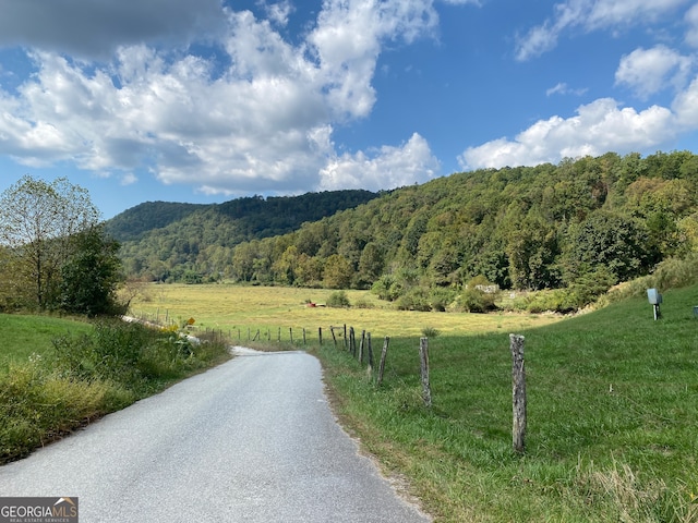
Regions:
M 0 0 L 0 192 L 390 190 L 698 153 L 696 0 Z

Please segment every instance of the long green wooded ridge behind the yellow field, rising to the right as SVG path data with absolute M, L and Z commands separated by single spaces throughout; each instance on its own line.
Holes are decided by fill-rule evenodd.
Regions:
M 125 242 L 127 267 L 164 280 L 373 287 L 406 308 L 436 309 L 476 278 L 567 289 L 576 305 L 698 250 L 698 156 L 609 153 L 462 172 L 274 236 L 269 217 L 249 217 L 244 204 L 229 206 L 240 223 L 210 208 Z

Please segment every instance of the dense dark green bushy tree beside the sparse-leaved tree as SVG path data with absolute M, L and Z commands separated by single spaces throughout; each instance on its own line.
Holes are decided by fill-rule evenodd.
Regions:
M 71 239 L 71 255 L 61 267 L 60 306 L 87 316 L 118 314 L 117 288 L 122 281 L 119 244 L 96 226 Z

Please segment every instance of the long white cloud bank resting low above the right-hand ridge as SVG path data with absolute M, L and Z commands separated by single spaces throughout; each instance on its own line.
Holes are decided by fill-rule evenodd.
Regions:
M 563 158 L 646 150 L 672 139 L 683 129 L 698 129 L 698 82 L 677 98 L 674 110 L 651 106 L 642 111 L 621 108 L 612 98 L 580 106 L 567 119 L 540 120 L 514 141 L 498 138 L 467 148 L 461 168 L 531 166 Z M 694 105 L 696 104 L 696 105 Z M 691 120 L 693 118 L 693 120 Z

